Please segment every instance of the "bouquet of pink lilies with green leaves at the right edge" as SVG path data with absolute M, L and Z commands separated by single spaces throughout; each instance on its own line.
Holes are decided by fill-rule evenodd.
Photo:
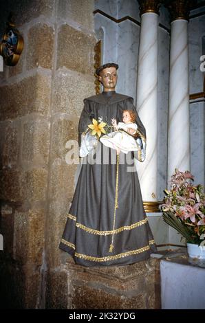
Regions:
M 202 185 L 193 186 L 191 172 L 175 170 L 171 189 L 160 205 L 163 220 L 186 238 L 187 243 L 205 244 L 205 194 Z

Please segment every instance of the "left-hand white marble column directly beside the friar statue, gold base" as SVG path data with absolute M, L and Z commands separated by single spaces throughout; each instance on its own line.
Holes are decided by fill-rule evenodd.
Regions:
M 157 205 L 157 86 L 158 8 L 160 1 L 140 3 L 141 28 L 138 56 L 137 110 L 147 132 L 146 159 L 138 163 L 144 208 L 154 212 Z

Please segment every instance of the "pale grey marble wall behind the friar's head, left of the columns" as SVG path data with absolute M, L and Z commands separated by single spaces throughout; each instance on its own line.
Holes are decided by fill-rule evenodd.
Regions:
M 131 5 L 131 1 L 129 4 Z M 104 5 L 103 7 L 102 1 L 96 1 L 95 8 L 109 14 L 122 14 L 122 10 L 125 15 L 131 10 L 131 6 L 126 7 L 125 1 L 117 1 L 116 5 L 105 1 Z M 136 8 L 136 3 L 133 7 Z M 115 8 L 118 10 L 115 11 Z M 140 27 L 129 20 L 117 24 L 101 14 L 95 14 L 94 27 L 97 38 L 102 39 L 101 63 L 114 62 L 119 65 L 116 91 L 131 96 L 135 102 Z

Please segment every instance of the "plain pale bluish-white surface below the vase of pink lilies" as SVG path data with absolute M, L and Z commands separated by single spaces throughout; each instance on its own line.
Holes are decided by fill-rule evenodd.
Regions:
M 160 261 L 162 309 L 205 309 L 205 270 Z

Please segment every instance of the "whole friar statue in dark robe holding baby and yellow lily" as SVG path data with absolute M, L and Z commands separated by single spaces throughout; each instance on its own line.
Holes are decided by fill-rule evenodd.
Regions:
M 146 132 L 133 98 L 115 91 L 117 69 L 96 69 L 103 91 L 84 100 L 82 166 L 60 243 L 87 267 L 128 265 L 156 251 L 134 163 L 144 161 Z

